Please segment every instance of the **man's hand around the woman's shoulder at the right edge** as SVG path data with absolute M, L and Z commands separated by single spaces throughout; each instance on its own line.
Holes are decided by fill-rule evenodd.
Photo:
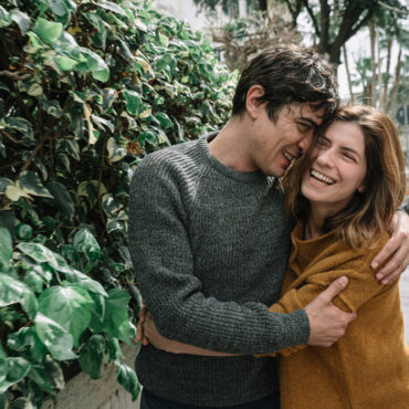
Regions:
M 390 223 L 392 234 L 382 250 L 370 264 L 373 269 L 380 265 L 390 254 L 391 259 L 379 270 L 376 277 L 381 284 L 389 284 L 398 280 L 409 262 L 409 216 L 403 211 L 396 211 Z

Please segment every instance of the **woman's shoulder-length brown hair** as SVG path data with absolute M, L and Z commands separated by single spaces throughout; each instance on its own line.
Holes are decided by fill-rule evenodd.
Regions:
M 339 239 L 357 248 L 363 241 L 376 238 L 386 230 L 406 195 L 405 157 L 395 125 L 380 111 L 369 106 L 346 106 L 336 114 L 334 120 L 357 124 L 364 135 L 366 190 L 355 192 L 343 210 L 327 218 L 324 232 L 338 229 Z M 301 193 L 301 180 L 310 169 L 314 145 L 283 178 L 285 208 L 303 220 L 308 217 L 310 202 Z

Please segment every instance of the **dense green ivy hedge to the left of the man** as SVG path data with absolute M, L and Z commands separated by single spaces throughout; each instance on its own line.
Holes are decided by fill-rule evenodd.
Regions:
M 0 407 L 40 408 L 78 360 L 135 338 L 127 250 L 140 158 L 219 128 L 232 78 L 200 33 L 138 0 L 0 6 Z M 11 407 L 10 406 L 10 407 Z

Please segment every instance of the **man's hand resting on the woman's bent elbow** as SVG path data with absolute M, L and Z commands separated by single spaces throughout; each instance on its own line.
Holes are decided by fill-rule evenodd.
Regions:
M 332 303 L 347 284 L 348 279 L 345 276 L 335 280 L 305 307 L 311 326 L 308 345 L 332 346 L 345 334 L 348 324 L 356 318 L 355 313 L 345 313 Z

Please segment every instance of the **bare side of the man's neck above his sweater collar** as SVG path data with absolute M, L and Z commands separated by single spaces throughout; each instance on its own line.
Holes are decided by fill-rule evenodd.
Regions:
M 249 155 L 249 118 L 245 114 L 233 116 L 209 144 L 209 149 L 223 165 L 231 169 L 250 172 L 258 170 Z

